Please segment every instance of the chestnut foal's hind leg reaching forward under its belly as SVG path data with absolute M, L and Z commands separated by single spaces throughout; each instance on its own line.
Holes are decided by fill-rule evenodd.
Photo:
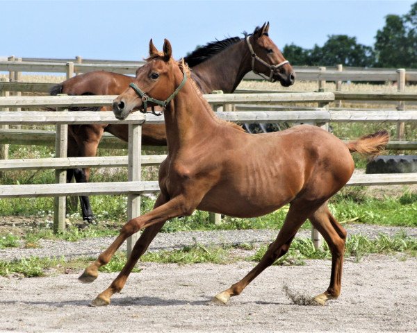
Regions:
M 318 205 L 309 205 L 305 200 L 296 200 L 291 203 L 290 210 L 288 210 L 284 225 L 282 225 L 281 230 L 279 230 L 277 239 L 270 244 L 259 264 L 257 264 L 245 278 L 233 284 L 229 289 L 222 291 L 222 293 L 218 293 L 218 295 L 213 298 L 213 301 L 227 304 L 231 296 L 239 295 L 265 268 L 268 268 L 279 257 L 285 255 L 288 252 L 291 241 L 293 241 L 298 229 L 317 207 Z

